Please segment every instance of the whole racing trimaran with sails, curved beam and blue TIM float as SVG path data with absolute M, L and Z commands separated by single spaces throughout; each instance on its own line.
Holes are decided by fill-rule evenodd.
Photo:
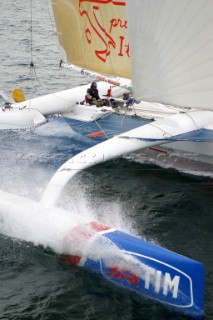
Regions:
M 52 5 L 63 60 L 83 74 L 104 80 L 99 82 L 99 90 L 105 98 L 110 89 L 110 98 L 122 103 L 123 93 L 129 92 L 132 86 L 135 102 L 128 108 L 121 106 L 116 110 L 81 104 L 87 85 L 12 104 L 14 110 L 36 109 L 43 116 L 60 113 L 83 134 L 88 130 L 84 125 L 90 124 L 90 133 L 99 128 L 103 140 L 107 132 L 110 133 L 110 139 L 59 168 L 42 203 L 55 205 L 50 203 L 53 192 L 59 195 L 73 172 L 131 152 L 148 151 L 151 158 L 155 157 L 154 153 L 168 157 L 175 153 L 175 160 L 188 159 L 188 165 L 192 160 L 196 164 L 213 164 L 212 1 L 53 0 Z M 111 75 L 112 79 L 103 79 L 102 74 Z M 107 118 L 110 121 L 105 121 Z M 117 121 L 116 130 L 110 127 L 113 119 Z M 113 137 L 113 133 L 116 136 Z M 88 161 L 82 162 L 82 157 Z M 3 196 L 9 201 L 9 195 Z M 20 202 L 17 200 L 17 205 L 21 205 Z M 104 265 L 104 257 L 94 263 L 93 258 L 87 256 L 88 248 L 78 252 L 83 262 L 78 255 L 69 255 L 69 261 L 103 275 L 107 273 L 111 281 L 134 291 L 140 291 L 143 283 L 140 292 L 143 295 L 191 316 L 202 316 L 200 265 L 201 279 L 195 276 L 194 261 L 173 257 L 172 253 L 155 255 L 152 245 L 145 244 L 147 251 L 144 249 L 142 240 L 136 243 L 131 236 L 126 239 L 122 234 L 118 234 L 117 239 L 117 233 L 114 237 L 107 227 L 96 223 L 90 223 L 90 227 L 92 231 L 90 228 L 88 232 L 77 227 L 70 239 L 83 235 L 84 240 L 88 240 L 94 233 L 108 234 L 110 241 L 127 254 L 133 269 L 127 260 L 125 268 L 120 269 L 116 262 L 114 266 Z M 94 244 L 94 239 L 88 241 Z M 132 243 L 135 243 L 133 247 Z M 137 264 L 143 269 L 142 273 L 135 271 Z M 144 265 L 148 271 L 144 271 Z

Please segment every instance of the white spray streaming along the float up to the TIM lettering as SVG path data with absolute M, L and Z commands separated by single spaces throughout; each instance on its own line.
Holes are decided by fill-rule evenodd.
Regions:
M 112 272 L 128 270 L 131 277 L 149 280 L 153 285 L 154 277 L 150 275 L 155 270 L 122 252 L 110 239 L 91 228 L 93 223 L 85 217 L 55 207 L 50 210 L 37 201 L 3 191 L 0 199 L 2 234 L 49 247 L 58 254 L 77 255 L 82 261 L 102 261 Z

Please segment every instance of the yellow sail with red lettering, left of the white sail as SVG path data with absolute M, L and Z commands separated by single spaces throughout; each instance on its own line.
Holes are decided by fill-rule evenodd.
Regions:
M 52 6 L 63 60 L 131 78 L 125 1 L 52 0 Z

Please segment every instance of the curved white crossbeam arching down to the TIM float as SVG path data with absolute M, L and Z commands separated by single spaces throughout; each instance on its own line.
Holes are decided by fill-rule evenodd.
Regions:
M 211 123 L 211 111 L 177 114 L 148 123 L 99 143 L 66 161 L 48 184 L 42 201 L 53 206 L 67 182 L 79 171 L 129 153 L 158 148 L 167 138 L 178 137 Z M 52 195 L 54 194 L 54 199 Z

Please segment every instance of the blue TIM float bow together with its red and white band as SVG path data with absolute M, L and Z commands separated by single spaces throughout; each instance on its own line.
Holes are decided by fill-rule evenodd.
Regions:
M 80 242 L 81 250 L 77 248 L 75 255 L 63 254 L 66 262 L 169 309 L 202 318 L 201 263 L 94 221 L 71 230 L 66 238 L 68 247 L 69 242 Z

